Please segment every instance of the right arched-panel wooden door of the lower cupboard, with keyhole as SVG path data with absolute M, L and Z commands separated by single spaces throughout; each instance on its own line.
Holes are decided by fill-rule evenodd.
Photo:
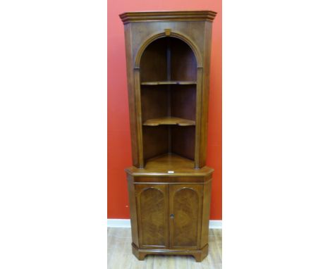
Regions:
M 198 249 L 202 218 L 200 184 L 173 184 L 169 189 L 170 247 Z

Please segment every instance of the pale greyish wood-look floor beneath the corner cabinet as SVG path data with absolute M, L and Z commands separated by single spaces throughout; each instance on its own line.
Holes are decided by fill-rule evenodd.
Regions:
M 130 228 L 108 228 L 108 269 L 221 269 L 222 230 L 209 230 L 209 255 L 201 263 L 193 256 L 153 256 L 138 261 L 132 254 Z

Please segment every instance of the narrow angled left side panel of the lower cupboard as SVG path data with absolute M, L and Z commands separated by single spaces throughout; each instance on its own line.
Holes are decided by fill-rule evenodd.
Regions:
M 136 215 L 135 189 L 133 184 L 133 177 L 127 175 L 127 182 L 128 182 L 128 199 L 130 203 L 130 227 L 132 231 L 132 242 L 135 244 L 135 246 L 139 246 L 138 218 Z

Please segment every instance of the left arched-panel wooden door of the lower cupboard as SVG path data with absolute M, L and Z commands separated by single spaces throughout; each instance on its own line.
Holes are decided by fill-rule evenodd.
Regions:
M 135 184 L 141 249 L 169 248 L 169 185 Z

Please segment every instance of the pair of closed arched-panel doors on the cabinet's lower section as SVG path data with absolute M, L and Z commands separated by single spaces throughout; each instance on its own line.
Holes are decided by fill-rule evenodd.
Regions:
M 141 248 L 199 248 L 202 184 L 137 184 L 135 196 Z

